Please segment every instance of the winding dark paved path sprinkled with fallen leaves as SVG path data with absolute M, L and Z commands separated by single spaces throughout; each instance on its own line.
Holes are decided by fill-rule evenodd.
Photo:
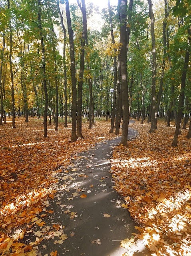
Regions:
M 132 139 L 136 133 L 129 128 L 128 138 Z M 121 207 L 123 198 L 113 188 L 109 173 L 112 147 L 119 144 L 120 139 L 97 143 L 78 154 L 72 167 L 56 176 L 58 193 L 47 208 L 54 213 L 43 220 L 48 226 L 65 226 L 63 231 L 68 238 L 62 244 L 55 243 L 59 240 L 57 236 L 44 239 L 38 248 L 42 256 L 56 250 L 60 256 L 121 256 L 127 252 L 120 247 L 120 242 L 130 238 L 131 232 L 136 233 L 137 224 L 127 209 Z M 87 197 L 81 198 L 82 195 Z M 132 250 L 138 250 L 137 255 L 147 255 L 140 241 Z

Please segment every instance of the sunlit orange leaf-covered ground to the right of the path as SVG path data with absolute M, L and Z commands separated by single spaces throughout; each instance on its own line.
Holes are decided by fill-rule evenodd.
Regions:
M 128 249 L 144 239 L 153 256 L 190 256 L 191 141 L 185 138 L 188 130 L 182 130 L 178 146 L 172 147 L 175 126 L 166 127 L 160 120 L 157 124 L 155 133 L 148 133 L 146 122 L 131 124 L 139 136 L 128 148 L 113 151 L 115 189 L 125 198 L 122 207 L 140 224 L 138 234 L 122 246 Z

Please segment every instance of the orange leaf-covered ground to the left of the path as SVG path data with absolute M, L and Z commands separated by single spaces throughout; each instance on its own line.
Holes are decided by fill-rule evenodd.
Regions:
M 63 171 L 63 166 L 67 168 L 79 152 L 115 135 L 108 134 L 110 122 L 105 120 L 97 120 L 92 129 L 88 129 L 88 122 L 83 122 L 85 139 L 72 143 L 72 125 L 64 128 L 62 120 L 58 131 L 54 130 L 54 124 L 48 126 L 48 138 L 43 138 L 43 121 L 36 117 L 30 118 L 29 123 L 24 123 L 23 117 L 16 118 L 16 129 L 11 129 L 11 120 L 7 121 L 0 127 L 0 254 L 35 256 L 32 248 L 42 238 L 37 236 L 32 244 L 23 244 L 22 238 L 34 224 L 46 228 L 43 218 L 53 212 L 46 211 L 46 206 L 57 192 L 56 174 Z M 47 234 L 62 233 L 65 240 L 67 236 L 59 231 L 62 228 L 55 224 Z

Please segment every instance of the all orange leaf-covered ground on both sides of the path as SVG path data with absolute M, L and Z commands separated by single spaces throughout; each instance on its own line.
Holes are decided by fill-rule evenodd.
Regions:
M 97 120 L 91 130 L 83 122 L 85 139 L 71 143 L 71 124 L 64 128 L 64 122 L 60 122 L 58 131 L 54 131 L 54 124 L 48 126 L 48 138 L 44 139 L 42 120 L 35 117 L 24 123 L 23 117 L 16 118 L 16 129 L 11 129 L 11 120 L 8 121 L 0 128 L 0 253 L 34 256 L 32 247 L 37 247 L 43 238 L 36 234 L 36 241 L 30 244 L 22 243 L 22 238 L 34 226 L 46 228 L 43 218 L 54 213 L 46 208 L 49 201 L 57 198 L 57 175 L 63 169 L 69 172 L 77 154 L 115 135 L 108 134 L 110 122 Z M 147 132 L 149 126 L 137 121 L 131 124 L 139 136 L 129 142 L 128 148 L 117 146 L 113 152 L 115 189 L 126 201 L 121 207 L 127 208 L 142 225 L 137 225 L 139 234 L 123 240 L 122 246 L 129 249 L 136 239 L 143 239 L 153 255 L 188 256 L 191 162 L 186 160 L 191 159 L 191 145 L 185 138 L 187 130 L 179 136 L 178 147 L 173 148 L 174 126 L 165 127 L 165 122 L 159 120 L 155 134 Z M 75 218 L 75 212 L 68 214 Z M 54 224 L 53 228 L 54 236 L 62 233 L 64 241 L 66 235 L 60 233 L 63 227 Z M 45 231 L 52 235 L 52 228 Z M 130 251 L 123 255 L 132 255 Z M 50 255 L 56 256 L 57 252 Z

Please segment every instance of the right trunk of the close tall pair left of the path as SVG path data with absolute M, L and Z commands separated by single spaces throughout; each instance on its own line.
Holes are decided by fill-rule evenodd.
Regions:
M 81 39 L 81 54 L 80 54 L 80 74 L 79 74 L 79 83 L 78 83 L 78 116 L 77 116 L 77 137 L 83 139 L 82 135 L 82 86 L 83 86 L 83 77 L 84 77 L 84 57 L 85 57 L 85 43 L 87 37 L 87 18 L 86 18 L 86 4 L 85 0 L 82 0 L 82 6 L 77 0 L 78 5 L 82 11 L 82 20 L 83 20 L 83 31 Z

